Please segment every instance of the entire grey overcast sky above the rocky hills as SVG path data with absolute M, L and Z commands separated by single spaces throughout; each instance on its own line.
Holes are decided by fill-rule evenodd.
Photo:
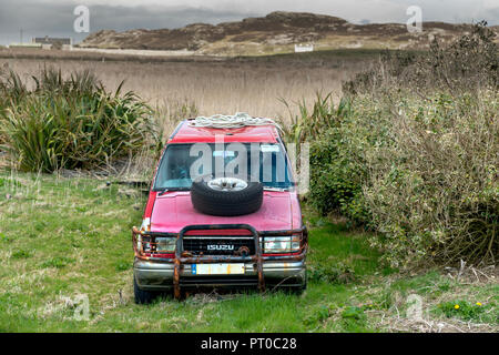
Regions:
M 71 37 L 73 10 L 90 10 L 90 32 L 143 28 L 179 28 L 193 22 L 220 23 L 268 12 L 306 11 L 344 18 L 354 23 L 403 22 L 409 6 L 419 6 L 424 21 L 499 24 L 499 0 L 0 0 L 0 44 L 32 37 Z

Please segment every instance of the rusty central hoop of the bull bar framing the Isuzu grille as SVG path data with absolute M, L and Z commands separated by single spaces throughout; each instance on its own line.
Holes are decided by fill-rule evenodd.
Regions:
M 211 255 L 211 256 L 183 256 L 183 237 L 186 232 L 200 231 L 200 230 L 247 230 L 252 233 L 255 241 L 255 255 L 252 256 L 233 256 L 233 255 Z M 196 263 L 224 263 L 224 262 L 255 262 L 256 271 L 258 273 L 258 290 L 265 291 L 265 280 L 263 276 L 262 266 L 262 247 L 259 244 L 259 234 L 254 227 L 248 224 L 200 224 L 187 225 L 180 231 L 176 239 L 174 272 L 173 272 L 173 295 L 175 298 L 181 297 L 180 290 L 180 271 L 183 264 L 196 264 Z

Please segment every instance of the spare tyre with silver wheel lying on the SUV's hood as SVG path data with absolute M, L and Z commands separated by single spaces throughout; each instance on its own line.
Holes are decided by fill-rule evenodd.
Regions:
M 236 178 L 196 180 L 191 186 L 191 201 L 198 212 L 218 216 L 235 216 L 256 212 L 263 202 L 261 182 Z

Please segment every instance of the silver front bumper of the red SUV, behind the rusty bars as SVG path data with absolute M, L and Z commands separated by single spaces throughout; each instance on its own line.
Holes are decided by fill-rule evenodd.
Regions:
M 157 263 L 135 258 L 133 265 L 136 284 L 147 291 L 173 290 L 173 263 Z M 183 264 L 180 270 L 180 286 L 185 287 L 243 287 L 258 285 L 255 263 L 244 263 L 244 275 L 197 276 L 192 273 L 192 264 Z M 299 287 L 306 282 L 306 263 L 302 261 L 262 262 L 263 277 L 268 287 Z

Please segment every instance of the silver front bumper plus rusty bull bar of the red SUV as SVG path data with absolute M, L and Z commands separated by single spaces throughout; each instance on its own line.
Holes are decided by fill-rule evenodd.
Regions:
M 203 230 L 247 230 L 254 240 L 255 255 L 242 256 L 191 256 L 183 251 L 184 234 L 191 231 Z M 189 225 L 176 235 L 176 248 L 174 258 L 165 260 L 144 256 L 136 247 L 139 234 L 136 229 L 132 233 L 132 242 L 135 251 L 134 277 L 142 290 L 162 291 L 173 288 L 174 296 L 181 295 L 181 287 L 202 286 L 257 286 L 264 291 L 271 287 L 304 287 L 306 284 L 306 252 L 308 247 L 306 227 L 295 231 L 267 231 L 257 232 L 247 224 L 220 224 L 220 225 Z M 264 255 L 261 250 L 261 239 L 266 236 L 294 235 L 301 233 L 301 250 L 292 255 Z M 146 235 L 146 232 L 144 233 Z M 171 236 L 171 235 L 170 235 Z M 141 243 L 139 243 L 141 244 Z M 184 255 L 185 254 L 185 255 Z M 236 263 L 244 264 L 242 275 L 196 275 L 193 274 L 193 264 L 206 263 Z

